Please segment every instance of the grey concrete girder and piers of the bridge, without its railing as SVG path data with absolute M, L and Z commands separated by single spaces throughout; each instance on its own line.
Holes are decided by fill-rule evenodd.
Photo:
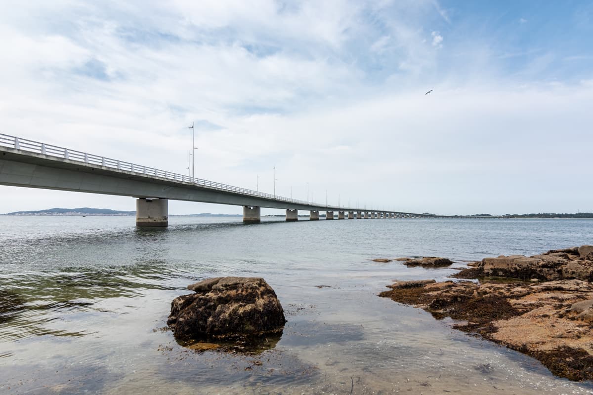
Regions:
M 136 221 L 141 226 L 167 226 L 168 200 L 230 204 L 244 207 L 244 221 L 259 222 L 260 207 L 286 210 L 286 220 L 298 220 L 298 210 L 310 211 L 310 219 L 319 219 L 319 211 L 327 212 L 326 219 L 369 218 L 368 210 L 331 207 L 304 202 L 294 203 L 286 198 L 266 198 L 250 194 L 173 181 L 168 178 L 108 168 L 78 160 L 55 158 L 35 152 L 0 147 L 0 185 L 43 188 L 49 190 L 88 192 L 129 196 L 138 199 Z M 232 187 L 234 188 L 234 187 Z M 237 188 L 240 189 L 240 188 Z M 371 212 L 371 218 L 378 213 Z M 419 214 L 382 213 L 383 218 L 418 217 Z

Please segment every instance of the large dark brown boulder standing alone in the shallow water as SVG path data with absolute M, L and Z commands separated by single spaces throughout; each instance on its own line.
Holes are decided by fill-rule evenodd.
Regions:
M 216 277 L 187 288 L 195 293 L 175 298 L 167 320 L 178 340 L 265 335 L 286 323 L 276 293 L 263 278 Z

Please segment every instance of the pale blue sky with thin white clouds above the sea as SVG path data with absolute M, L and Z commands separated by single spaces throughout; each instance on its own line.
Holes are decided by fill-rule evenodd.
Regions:
M 318 203 L 593 211 L 591 1 L 0 5 L 0 133 L 187 174 L 193 122 L 196 177 L 238 187 L 275 167 Z M 0 186 L 0 213 L 50 207 L 135 201 Z

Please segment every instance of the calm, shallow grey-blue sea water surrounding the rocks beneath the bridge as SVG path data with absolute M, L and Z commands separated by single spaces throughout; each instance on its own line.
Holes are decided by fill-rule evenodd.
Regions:
M 591 394 L 538 361 L 377 294 L 466 261 L 593 244 L 592 220 L 374 219 L 285 223 L 0 216 L 2 394 Z M 263 277 L 288 323 L 259 355 L 197 352 L 165 322 L 203 278 Z M 324 285 L 324 287 L 320 287 Z

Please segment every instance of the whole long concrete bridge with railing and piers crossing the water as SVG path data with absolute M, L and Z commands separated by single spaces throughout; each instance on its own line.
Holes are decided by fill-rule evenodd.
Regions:
M 309 211 L 310 220 L 318 220 L 320 211 L 326 211 L 326 220 L 333 220 L 335 212 L 339 220 L 463 218 L 318 204 L 149 168 L 8 134 L 0 134 L 0 185 L 134 197 L 137 226 L 167 226 L 168 200 L 240 205 L 243 206 L 245 223 L 260 222 L 262 207 L 286 210 L 286 221 L 297 221 L 298 210 Z

